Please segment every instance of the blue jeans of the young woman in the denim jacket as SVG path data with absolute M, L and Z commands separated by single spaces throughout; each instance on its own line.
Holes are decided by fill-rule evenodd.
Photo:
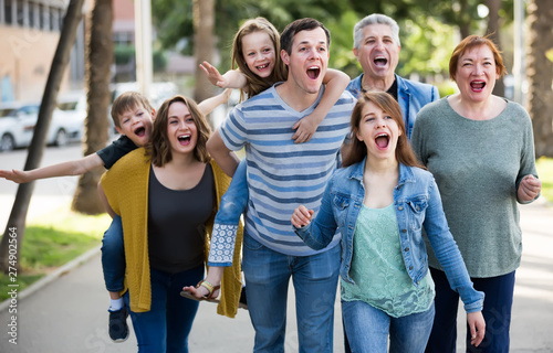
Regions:
M 364 301 L 342 301 L 347 340 L 353 353 L 422 353 L 434 322 L 434 303 L 425 312 L 393 318 Z

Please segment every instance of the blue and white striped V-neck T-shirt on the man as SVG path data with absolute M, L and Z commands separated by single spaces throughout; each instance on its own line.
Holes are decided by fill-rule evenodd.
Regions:
M 293 232 L 290 218 L 300 204 L 319 211 L 336 156 L 349 132 L 355 98 L 345 92 L 306 143 L 294 143 L 292 126 L 313 113 L 323 96 L 303 111 L 285 104 L 275 86 L 238 105 L 219 133 L 230 150 L 246 148 L 250 192 L 246 231 L 264 246 L 291 256 L 320 252 L 307 247 Z M 337 245 L 340 234 L 328 248 Z

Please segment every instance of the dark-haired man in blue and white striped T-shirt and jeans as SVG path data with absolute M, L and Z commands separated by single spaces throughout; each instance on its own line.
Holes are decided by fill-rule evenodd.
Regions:
M 243 272 L 255 330 L 254 352 L 284 351 L 290 277 L 296 298 L 300 351 L 332 352 L 340 234 L 312 250 L 292 231 L 299 204 L 319 210 L 340 147 L 349 132 L 355 98 L 344 93 L 306 143 L 294 143 L 292 126 L 310 115 L 324 93 L 330 33 L 313 19 L 296 20 L 281 35 L 288 79 L 237 106 L 208 149 L 232 173 L 246 149 L 250 200 L 246 214 Z

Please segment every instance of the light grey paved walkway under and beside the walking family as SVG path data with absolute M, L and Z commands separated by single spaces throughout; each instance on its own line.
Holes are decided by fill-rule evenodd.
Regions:
M 524 250 L 517 271 L 511 352 L 553 352 L 553 208 L 543 201 L 521 206 L 521 224 Z M 9 312 L 10 302 L 0 304 L 0 352 L 136 352 L 133 333 L 125 343 L 108 340 L 108 297 L 97 249 L 86 256 L 88 259 L 84 263 L 71 264 L 59 271 L 54 280 L 44 281 L 29 296 L 19 293 L 17 313 Z M 286 352 L 296 352 L 293 304 L 289 303 L 288 314 Z M 15 320 L 12 315 L 17 315 Z M 340 315 L 336 302 L 334 352 L 337 353 L 343 352 Z M 463 320 L 461 315 L 461 338 Z M 17 345 L 9 342 L 13 322 L 17 323 Z M 227 319 L 216 314 L 215 304 L 200 304 L 190 334 L 191 352 L 251 352 L 252 346 L 253 329 L 247 311 L 240 309 L 236 319 Z M 458 351 L 463 351 L 461 342 Z

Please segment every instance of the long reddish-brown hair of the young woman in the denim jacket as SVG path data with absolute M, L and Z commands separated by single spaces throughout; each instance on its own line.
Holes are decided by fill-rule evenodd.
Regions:
M 401 109 L 393 96 L 385 92 L 367 92 L 359 96 L 357 104 L 352 111 L 352 143 L 346 148 L 344 153 L 343 167 L 352 165 L 363 161 L 365 156 L 367 156 L 367 147 L 365 142 L 357 139 L 357 131 L 359 130 L 359 124 L 363 119 L 363 108 L 369 101 L 374 103 L 378 108 L 386 111 L 394 121 L 396 121 L 397 127 L 401 133 L 397 138 L 396 146 L 396 159 L 399 163 L 408 167 L 418 167 L 426 169 L 415 156 L 409 141 L 407 140 L 407 133 L 405 132 L 404 118 L 401 117 Z

